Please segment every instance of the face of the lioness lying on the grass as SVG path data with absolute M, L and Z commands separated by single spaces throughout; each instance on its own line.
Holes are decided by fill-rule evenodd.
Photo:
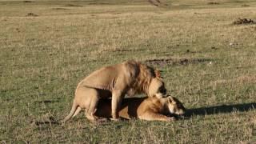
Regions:
M 168 108 L 171 114 L 185 114 L 185 107 L 182 105 L 182 102 L 178 101 L 177 98 L 168 97 Z

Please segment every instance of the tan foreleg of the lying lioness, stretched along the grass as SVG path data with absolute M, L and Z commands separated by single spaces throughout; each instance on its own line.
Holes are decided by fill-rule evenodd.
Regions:
M 138 116 L 138 118 L 146 121 L 164 121 L 164 122 L 170 122 L 175 120 L 175 118 L 173 117 L 167 117 L 163 114 L 158 114 L 153 111 L 148 111 L 145 114 Z

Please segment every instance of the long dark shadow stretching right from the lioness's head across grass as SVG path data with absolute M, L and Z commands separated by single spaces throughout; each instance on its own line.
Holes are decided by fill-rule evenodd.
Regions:
M 186 110 L 186 114 L 184 116 L 186 118 L 190 118 L 193 115 L 224 114 L 234 111 L 246 112 L 253 109 L 256 109 L 256 102 L 189 109 Z

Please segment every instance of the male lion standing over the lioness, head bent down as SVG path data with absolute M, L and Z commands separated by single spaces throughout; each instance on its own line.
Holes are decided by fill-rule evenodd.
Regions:
M 78 83 L 75 91 L 74 102 L 66 122 L 76 113 L 77 107 L 86 109 L 86 118 L 94 121 L 94 112 L 100 98 L 112 96 L 112 119 L 118 119 L 122 98 L 125 94 L 147 94 L 149 97 L 162 98 L 166 94 L 166 87 L 159 71 L 140 62 L 128 61 L 114 66 L 106 66 L 94 71 L 82 82 Z

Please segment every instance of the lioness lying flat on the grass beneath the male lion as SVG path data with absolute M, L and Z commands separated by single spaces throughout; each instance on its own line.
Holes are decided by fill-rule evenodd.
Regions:
M 80 112 L 78 107 L 74 117 Z M 119 111 L 121 118 L 139 118 L 147 121 L 172 121 L 174 118 L 167 117 L 167 114 L 184 114 L 185 108 L 177 98 L 168 96 L 166 98 L 124 98 Z M 165 115 L 166 114 L 166 115 Z M 95 115 L 102 118 L 111 118 L 111 100 L 101 99 Z

